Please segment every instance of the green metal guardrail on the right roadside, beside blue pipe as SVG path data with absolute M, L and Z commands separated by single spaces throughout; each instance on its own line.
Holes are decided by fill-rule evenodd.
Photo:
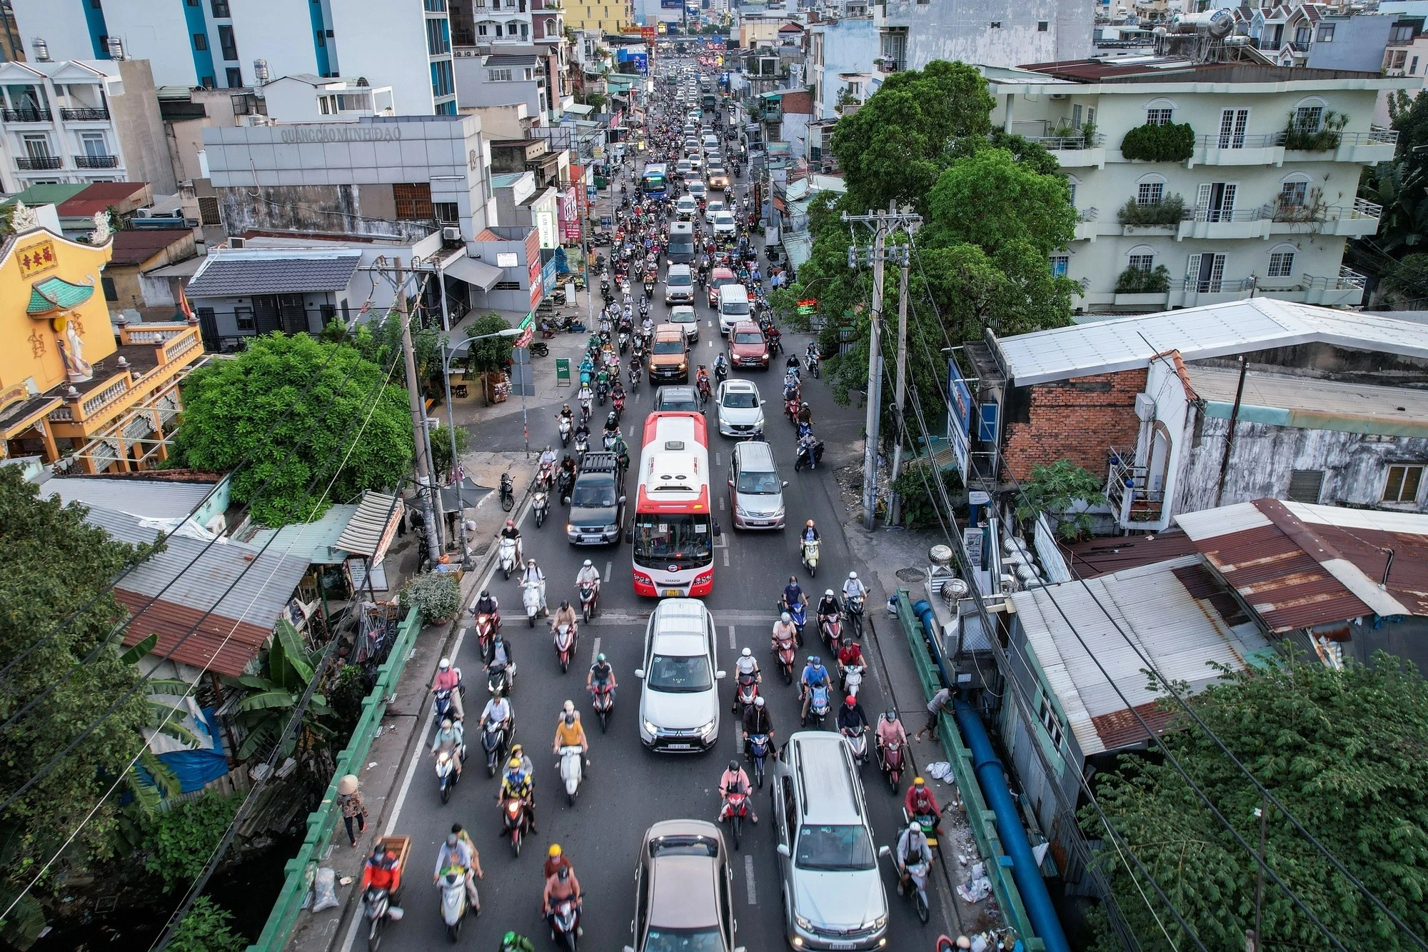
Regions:
M 912 652 L 912 666 L 917 669 L 918 680 L 922 682 L 922 695 L 931 700 L 932 695 L 942 689 L 942 678 L 927 650 L 927 642 L 922 639 L 922 622 L 912 613 L 912 600 L 907 589 L 897 590 L 897 620 L 902 628 L 902 635 L 907 636 L 908 649 Z M 1027 952 L 1044 952 L 1047 946 L 1035 938 L 1027 908 L 1021 903 L 1021 892 L 1011 878 L 1011 858 L 1001 848 L 1001 836 L 997 833 L 997 815 L 987 809 L 981 783 L 977 782 L 977 773 L 972 770 L 971 750 L 962 743 L 957 720 L 945 713 L 941 715 L 938 733 L 942 738 L 947 760 L 952 765 L 952 773 L 957 776 L 957 788 L 967 810 L 967 823 L 972 829 L 977 848 L 987 858 L 987 878 L 991 881 L 992 895 L 1001 905 L 1002 918 L 1022 938 Z

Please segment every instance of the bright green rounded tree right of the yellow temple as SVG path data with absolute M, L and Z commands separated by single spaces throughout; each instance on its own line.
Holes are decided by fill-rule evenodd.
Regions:
M 407 396 L 386 383 L 401 379 L 400 367 L 388 376 L 391 363 L 373 363 L 361 346 L 361 339 L 354 347 L 273 333 L 194 370 L 184 382 L 173 463 L 227 472 L 251 453 L 233 477 L 233 497 L 273 527 L 316 519 L 333 499 L 396 486 L 411 466 Z M 331 492 L 321 496 L 328 482 Z M 311 493 L 308 483 L 317 486 Z

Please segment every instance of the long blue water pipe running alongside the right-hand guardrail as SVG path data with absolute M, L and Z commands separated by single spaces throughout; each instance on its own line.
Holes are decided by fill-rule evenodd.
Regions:
M 915 602 L 912 613 L 922 620 L 927 646 L 937 670 L 941 672 L 942 683 L 954 685 L 955 682 L 942 665 L 941 646 L 937 643 L 937 618 L 931 603 L 927 599 Z M 961 728 L 962 739 L 972 755 L 972 770 L 981 783 L 982 796 L 987 799 L 987 806 L 997 815 L 997 833 L 1011 859 L 1011 878 L 1021 893 L 1021 903 L 1027 908 L 1031 928 L 1035 929 L 1037 938 L 1045 943 L 1047 952 L 1071 952 L 1065 932 L 1061 931 L 1061 919 L 1057 918 L 1055 906 L 1051 903 L 1051 893 L 1047 892 L 1047 882 L 1041 878 L 1041 866 L 1031 855 L 1027 830 L 1021 826 L 1021 813 L 1017 812 L 1011 790 L 1007 788 L 1007 772 L 992 750 L 987 728 L 982 726 L 977 709 L 965 700 L 955 702 L 955 712 L 957 725 Z

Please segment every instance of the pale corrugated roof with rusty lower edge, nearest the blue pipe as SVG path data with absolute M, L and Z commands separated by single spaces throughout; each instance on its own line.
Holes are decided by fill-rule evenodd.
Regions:
M 1017 620 L 1082 753 L 1147 739 L 1128 710 L 1134 706 L 1144 713 L 1158 696 L 1147 689 L 1145 662 L 1132 643 L 1164 678 L 1187 682 L 1191 693 L 1218 679 L 1212 663 L 1242 669 L 1247 658 L 1269 650 L 1252 623 L 1231 626 L 1208 602 L 1190 593 L 1177 569 L 1198 563 L 1198 556 L 1182 556 L 1011 596 Z M 1164 719 L 1147 720 L 1152 728 L 1164 726 Z

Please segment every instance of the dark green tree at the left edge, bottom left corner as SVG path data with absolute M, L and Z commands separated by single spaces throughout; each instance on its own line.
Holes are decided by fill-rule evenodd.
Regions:
M 114 542 L 84 522 L 84 513 L 80 506 L 61 505 L 57 496 L 41 497 L 19 466 L 0 467 L 0 658 L 13 665 L 0 676 L 0 720 L 49 690 L 0 735 L 4 798 L 139 679 L 120 659 L 117 639 L 109 645 L 110 632 L 127 612 L 106 587 L 149 549 Z M 94 658 L 73 678 L 54 683 L 90 653 Z M 139 729 L 149 722 L 149 703 L 136 693 L 0 816 L 0 909 L 64 846 L 71 830 L 80 830 L 0 925 L 0 935 L 11 945 L 27 948 L 44 928 L 43 903 L 63 875 L 113 855 L 117 798 L 104 798 L 143 749 Z M 96 803 L 99 810 L 84 823 Z

